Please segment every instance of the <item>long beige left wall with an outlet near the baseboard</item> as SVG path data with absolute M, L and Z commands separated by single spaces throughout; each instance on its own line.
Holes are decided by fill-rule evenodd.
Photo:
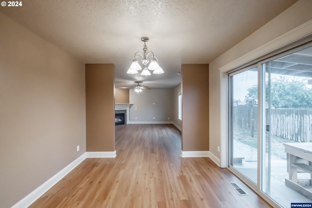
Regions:
M 86 151 L 85 72 L 1 13 L 0 31 L 0 207 L 9 208 Z

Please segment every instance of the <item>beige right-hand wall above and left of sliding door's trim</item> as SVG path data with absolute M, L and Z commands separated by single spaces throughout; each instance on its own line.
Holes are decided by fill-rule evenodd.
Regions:
M 238 43 L 232 49 L 216 58 L 209 64 L 209 107 L 210 107 L 210 151 L 218 158 L 220 154 L 217 151 L 217 146 L 221 144 L 221 136 L 226 134 L 226 128 L 224 125 L 221 127 L 221 123 L 226 119 L 226 112 L 222 111 L 220 106 L 226 102 L 226 87 L 224 82 L 221 82 L 222 74 L 219 69 L 221 67 L 229 65 L 231 62 L 235 62 L 237 59 L 245 59 L 252 61 L 257 57 L 252 57 L 250 54 L 254 50 L 263 50 L 263 45 L 272 41 L 274 38 L 283 36 L 285 33 L 292 29 L 304 24 L 305 22 L 312 19 L 312 1 L 311 0 L 300 0 L 289 9 L 285 10 L 279 16 L 268 22 L 266 25 L 255 31 L 248 38 Z M 295 40 L 296 37 L 289 36 L 289 40 Z M 249 58 L 246 58 L 249 57 Z M 237 61 L 239 63 L 239 61 Z M 240 63 L 243 64 L 243 63 Z M 235 65 L 235 64 L 232 64 Z M 237 65 L 238 66 L 238 65 Z M 225 81 L 226 82 L 226 81 Z M 222 91 L 221 91 L 222 90 Z M 222 100 L 222 102 L 221 102 Z M 222 119 L 220 120 L 220 118 Z M 225 123 L 226 126 L 226 123 Z M 224 128 L 223 130 L 221 130 Z M 221 131 L 223 133 L 221 133 Z M 222 135 L 221 135 L 222 134 Z M 224 137 L 223 137 L 224 138 Z M 223 142 L 223 140 L 222 140 Z M 226 148 L 225 148 L 226 149 Z M 225 150 L 226 151 L 226 150 Z

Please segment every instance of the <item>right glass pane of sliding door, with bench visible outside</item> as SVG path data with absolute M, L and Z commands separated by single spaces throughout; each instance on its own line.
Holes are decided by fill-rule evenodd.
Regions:
M 311 202 L 312 47 L 260 66 L 261 190 L 283 207 Z

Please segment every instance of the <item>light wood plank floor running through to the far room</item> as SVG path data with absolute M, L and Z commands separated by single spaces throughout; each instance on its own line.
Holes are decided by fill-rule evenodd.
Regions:
M 116 151 L 116 158 L 87 158 L 30 208 L 270 207 L 209 158 L 181 158 L 171 124 L 117 126 Z

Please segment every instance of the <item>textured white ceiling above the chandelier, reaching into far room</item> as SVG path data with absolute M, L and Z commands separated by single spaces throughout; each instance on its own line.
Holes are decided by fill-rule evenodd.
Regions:
M 296 1 L 22 0 L 0 12 L 83 63 L 114 63 L 116 87 L 156 89 L 175 87 L 181 64 L 211 62 Z M 126 74 L 143 36 L 164 74 Z

